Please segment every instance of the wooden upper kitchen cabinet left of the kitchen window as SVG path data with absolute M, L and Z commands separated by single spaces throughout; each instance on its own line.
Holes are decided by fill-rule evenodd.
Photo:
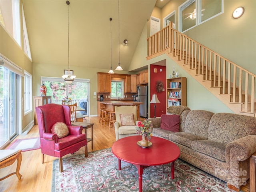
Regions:
M 111 92 L 111 75 L 98 73 L 98 92 L 110 93 Z

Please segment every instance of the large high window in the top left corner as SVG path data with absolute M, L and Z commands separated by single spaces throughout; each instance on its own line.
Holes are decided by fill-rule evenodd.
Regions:
M 21 45 L 20 39 L 20 1 L 0 0 L 0 24 L 10 36 Z

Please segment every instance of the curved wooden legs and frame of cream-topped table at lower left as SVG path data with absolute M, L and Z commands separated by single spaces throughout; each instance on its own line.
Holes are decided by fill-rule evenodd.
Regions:
M 18 153 L 14 154 L 14 155 L 12 155 L 12 156 L 10 156 L 10 157 L 8 157 L 7 159 L 2 160 L 2 161 L 0 162 L 0 168 L 5 168 L 5 167 L 7 167 L 7 166 L 12 165 L 12 164 L 15 162 L 16 159 L 17 159 L 17 161 L 18 161 L 18 162 L 17 162 L 16 172 L 13 172 L 13 173 L 11 173 L 11 174 L 8 174 L 8 175 L 5 176 L 5 177 L 0 178 L 0 181 L 2 181 L 2 180 L 6 179 L 6 178 L 8 178 L 8 177 L 10 177 L 11 175 L 14 175 L 14 174 L 17 175 L 18 179 L 21 178 L 21 176 L 22 176 L 22 175 L 20 174 L 20 165 L 21 165 L 21 160 L 22 160 L 21 150 L 18 150 Z

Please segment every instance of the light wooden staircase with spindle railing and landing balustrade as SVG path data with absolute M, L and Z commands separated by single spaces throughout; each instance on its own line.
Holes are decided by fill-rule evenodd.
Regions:
M 147 60 L 168 55 L 234 113 L 256 117 L 256 75 L 171 26 L 147 39 Z

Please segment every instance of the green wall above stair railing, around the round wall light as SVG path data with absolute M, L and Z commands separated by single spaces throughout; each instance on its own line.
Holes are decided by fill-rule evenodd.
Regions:
M 233 11 L 239 6 L 244 14 L 234 19 Z M 256 74 L 255 8 L 255 0 L 224 0 L 223 14 L 184 34 Z

